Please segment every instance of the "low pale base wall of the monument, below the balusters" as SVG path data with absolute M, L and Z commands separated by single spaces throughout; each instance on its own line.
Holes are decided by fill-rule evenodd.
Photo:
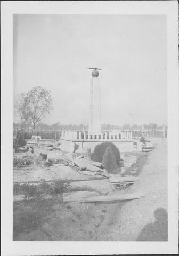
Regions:
M 132 140 L 67 140 L 67 139 L 60 139 L 60 148 L 64 151 L 74 152 L 75 145 L 78 145 L 77 152 L 86 151 L 87 148 L 90 148 L 93 152 L 96 145 L 102 142 L 112 142 L 116 145 L 120 152 L 131 152 L 136 150 L 134 148 L 134 142 Z M 140 149 L 138 149 L 140 150 Z

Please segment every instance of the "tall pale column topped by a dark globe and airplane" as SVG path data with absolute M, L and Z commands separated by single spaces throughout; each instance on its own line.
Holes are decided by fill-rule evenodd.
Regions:
M 90 124 L 89 131 L 90 135 L 101 134 L 101 86 L 99 71 L 100 68 L 89 68 L 93 69 L 92 78 L 90 83 Z

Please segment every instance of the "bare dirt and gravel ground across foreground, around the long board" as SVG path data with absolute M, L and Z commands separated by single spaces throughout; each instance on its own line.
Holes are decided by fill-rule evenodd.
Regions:
M 163 218 L 163 225 L 160 225 L 161 221 L 154 222 L 153 213 L 161 208 L 167 210 L 166 149 L 166 142 L 162 141 L 151 153 L 130 153 L 136 157 L 136 163 L 132 167 L 126 167 L 124 173 L 139 175 L 140 180 L 126 188 L 115 188 L 108 179 L 82 175 L 68 166 L 44 169 L 38 166 L 14 168 L 14 183 L 68 178 L 71 181 L 71 190 L 63 196 L 78 197 L 131 191 L 144 193 L 145 197 L 125 203 L 108 204 L 63 202 L 61 195 L 14 200 L 13 240 L 136 241 L 151 240 L 151 237 L 164 240 L 166 219 Z M 162 210 L 158 215 L 165 216 Z M 161 226 L 165 230 L 160 230 Z M 162 237 L 161 234 L 160 237 L 158 234 L 151 234 L 156 232 L 156 227 Z

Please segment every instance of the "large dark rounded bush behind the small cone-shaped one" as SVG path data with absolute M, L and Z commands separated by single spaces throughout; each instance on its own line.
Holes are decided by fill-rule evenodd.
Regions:
M 97 145 L 94 148 L 94 152 L 92 154 L 92 160 L 101 163 L 102 159 L 103 159 L 103 155 L 104 155 L 107 147 L 111 148 L 113 155 L 115 155 L 116 163 L 119 164 L 119 162 L 120 162 L 119 149 L 112 142 L 103 142 L 103 143 Z

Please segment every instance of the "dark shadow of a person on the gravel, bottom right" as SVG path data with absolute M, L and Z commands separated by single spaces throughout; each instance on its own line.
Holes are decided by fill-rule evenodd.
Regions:
M 163 208 L 154 211 L 156 221 L 146 225 L 137 241 L 168 241 L 168 216 L 167 211 Z

